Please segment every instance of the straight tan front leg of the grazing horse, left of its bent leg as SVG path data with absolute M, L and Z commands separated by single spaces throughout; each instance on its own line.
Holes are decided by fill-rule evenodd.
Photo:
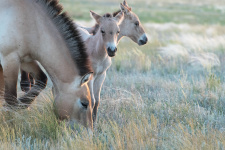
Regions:
M 20 68 L 19 57 L 15 54 L 9 54 L 2 59 L 5 94 L 4 98 L 7 104 L 15 106 L 17 101 L 17 79 Z

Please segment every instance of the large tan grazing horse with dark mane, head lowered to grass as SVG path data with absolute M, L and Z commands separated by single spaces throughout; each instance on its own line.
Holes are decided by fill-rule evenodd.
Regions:
M 57 116 L 92 129 L 87 85 L 92 68 L 77 27 L 58 1 L 1 0 L 0 18 L 0 77 L 4 77 L 0 83 L 4 80 L 6 104 L 28 107 L 45 88 L 46 76 L 38 61 L 53 82 Z M 36 82 L 17 99 L 20 68 L 30 72 Z

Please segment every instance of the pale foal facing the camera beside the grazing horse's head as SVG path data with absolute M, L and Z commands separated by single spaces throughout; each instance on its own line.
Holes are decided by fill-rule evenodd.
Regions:
M 105 80 L 106 70 L 111 65 L 111 57 L 117 51 L 117 38 L 120 32 L 119 25 L 123 20 L 123 12 L 115 17 L 111 14 L 100 16 L 91 11 L 92 17 L 99 24 L 99 29 L 95 35 L 89 34 L 80 28 L 80 33 L 85 40 L 87 52 L 91 60 L 94 75 L 88 83 L 91 92 L 93 107 L 93 122 L 96 121 L 97 110 L 100 100 L 100 90 Z

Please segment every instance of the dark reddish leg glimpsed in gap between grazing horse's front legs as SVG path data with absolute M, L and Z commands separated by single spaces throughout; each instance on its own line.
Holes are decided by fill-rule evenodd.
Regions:
M 20 69 L 21 72 L 21 81 L 20 81 L 20 88 L 24 92 L 28 92 L 31 89 L 31 82 L 29 79 L 29 73 L 26 73 L 22 69 Z

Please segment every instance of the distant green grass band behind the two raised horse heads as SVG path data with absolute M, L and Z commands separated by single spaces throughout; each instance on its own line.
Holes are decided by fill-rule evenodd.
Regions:
M 62 0 L 64 7 L 70 10 L 72 17 L 76 20 L 91 20 L 89 11 L 93 10 L 100 14 L 114 12 L 119 9 L 120 1 L 78 1 Z M 122 2 L 122 1 L 121 1 Z M 134 12 L 140 17 L 142 22 L 175 22 L 190 24 L 225 24 L 225 12 L 217 9 L 213 5 L 194 5 L 187 3 L 157 3 L 157 2 L 133 1 L 130 5 Z M 132 5 L 133 4 L 133 5 Z

